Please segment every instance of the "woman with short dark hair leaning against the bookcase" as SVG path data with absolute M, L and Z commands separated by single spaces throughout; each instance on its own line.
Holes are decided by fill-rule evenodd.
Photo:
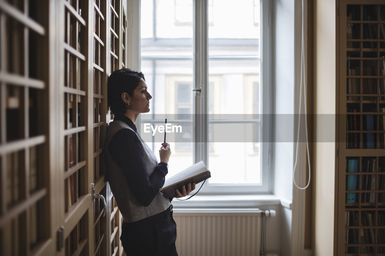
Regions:
M 178 255 L 172 198 L 159 192 L 167 175 L 169 143 L 159 150 L 161 162 L 142 140 L 136 126 L 140 113 L 150 111 L 152 96 L 142 72 L 122 68 L 108 78 L 108 105 L 114 114 L 105 138 L 107 180 L 123 216 L 121 241 L 127 255 Z M 188 195 L 195 184 L 176 190 Z

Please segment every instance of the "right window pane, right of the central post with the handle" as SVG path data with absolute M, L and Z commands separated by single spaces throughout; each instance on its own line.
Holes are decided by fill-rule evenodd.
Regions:
M 208 113 L 212 114 L 208 137 L 208 169 L 212 172 L 209 184 L 261 183 L 260 28 L 256 2 L 213 3 L 214 23 L 208 32 Z M 228 13 L 233 15 L 231 19 Z M 219 136 L 223 131 L 227 136 Z M 236 136 L 239 133 L 242 136 Z

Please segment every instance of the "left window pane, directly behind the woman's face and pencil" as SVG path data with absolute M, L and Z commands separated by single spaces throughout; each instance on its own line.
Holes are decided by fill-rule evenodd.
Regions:
M 157 2 L 154 7 L 154 2 Z M 192 165 L 192 0 L 141 1 L 141 71 L 146 77 L 151 111 L 141 123 L 181 125 L 182 132 L 167 133 L 172 155 L 169 175 Z M 155 18 L 155 20 L 154 20 Z M 182 24 L 183 23 L 183 24 Z M 159 160 L 164 133 L 141 136 Z

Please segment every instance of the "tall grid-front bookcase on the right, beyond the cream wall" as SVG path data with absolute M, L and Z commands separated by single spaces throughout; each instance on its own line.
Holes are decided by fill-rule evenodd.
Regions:
M 341 0 L 338 255 L 385 255 L 385 4 Z

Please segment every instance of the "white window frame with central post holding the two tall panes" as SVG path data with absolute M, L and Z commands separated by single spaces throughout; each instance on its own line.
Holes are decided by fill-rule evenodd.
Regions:
M 129 1 L 133 7 L 132 13 L 140 13 L 140 0 Z M 261 185 L 244 184 L 210 184 L 206 181 L 200 195 L 226 195 L 226 194 L 273 194 L 274 192 L 274 172 L 272 168 L 272 103 L 273 95 L 271 91 L 271 36 L 270 27 L 272 1 L 261 0 L 261 73 L 259 86 L 261 87 L 260 104 L 261 104 Z M 196 114 L 208 113 L 208 20 L 207 9 L 208 0 L 194 0 L 194 75 L 193 86 L 201 89 L 202 92 L 195 93 L 193 97 L 193 110 Z M 250 8 L 253 8 L 254 5 Z M 251 21 L 254 22 L 254 21 Z M 129 26 L 130 27 L 130 26 Z M 135 53 L 127 58 L 128 63 L 132 63 L 131 68 L 140 69 L 140 18 L 132 20 L 131 28 L 127 33 L 128 49 L 131 53 Z M 207 40 L 204 40 L 207 38 Z M 130 51 L 127 51 L 127 55 Z M 130 60 L 131 58 L 131 60 Z M 129 66 L 130 67 L 130 66 Z M 268 99 L 268 100 L 264 100 Z M 267 102 L 266 102 L 267 101 Z M 208 119 L 207 115 L 194 115 L 193 125 L 195 127 L 193 141 L 193 162 L 197 163 L 203 160 L 208 163 L 208 148 L 205 143 L 208 141 Z M 140 116 L 137 123 L 140 123 Z M 263 138 L 263 139 L 262 139 Z M 231 161 L 231 160 L 230 160 Z M 234 160 L 236 161 L 236 160 Z M 234 170 L 236 173 L 236 170 Z M 201 184 L 199 184 L 198 188 Z

